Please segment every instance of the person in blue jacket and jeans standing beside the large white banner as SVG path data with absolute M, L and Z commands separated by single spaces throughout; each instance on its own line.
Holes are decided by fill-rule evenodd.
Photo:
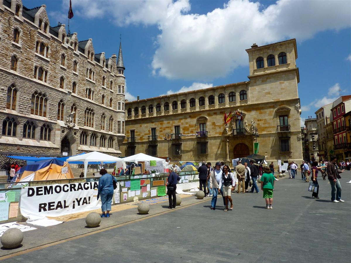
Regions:
M 108 174 L 105 168 L 102 168 L 99 173 L 101 174 L 101 177 L 99 178 L 98 185 L 98 200 L 100 196 L 102 212 L 101 217 L 110 217 L 113 196 L 113 181 L 117 183 L 117 180 L 112 176 L 112 174 Z

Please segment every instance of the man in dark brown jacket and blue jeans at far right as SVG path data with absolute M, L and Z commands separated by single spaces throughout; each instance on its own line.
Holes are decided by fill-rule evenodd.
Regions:
M 327 174 L 331 186 L 331 201 L 334 203 L 344 202 L 344 200 L 341 199 L 341 185 L 339 182 L 339 179 L 341 179 L 341 177 L 339 173 L 342 173 L 345 170 L 338 170 L 338 167 L 336 165 L 336 156 L 332 156 L 330 159 L 331 161 L 327 164 Z

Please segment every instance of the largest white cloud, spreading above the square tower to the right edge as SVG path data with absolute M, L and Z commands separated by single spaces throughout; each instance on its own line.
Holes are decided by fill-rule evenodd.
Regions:
M 204 2 L 205 3 L 205 2 Z M 265 3 L 264 3 L 265 4 Z M 351 1 L 259 2 L 230 0 L 207 14 L 185 1 L 78 1 L 74 15 L 109 19 L 117 26 L 157 25 L 151 63 L 155 75 L 210 81 L 247 65 L 245 49 L 288 38 L 303 41 L 324 30 L 350 27 Z M 65 15 L 68 1 L 63 2 Z

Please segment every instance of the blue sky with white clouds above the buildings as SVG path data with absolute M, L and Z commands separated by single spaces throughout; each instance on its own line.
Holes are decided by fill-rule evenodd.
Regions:
M 68 24 L 68 0 L 46 5 L 50 25 Z M 95 53 L 118 54 L 129 101 L 248 81 L 245 49 L 295 38 L 301 122 L 351 94 L 351 1 L 72 0 L 69 30 Z M 289 96 L 289 94 L 287 94 Z

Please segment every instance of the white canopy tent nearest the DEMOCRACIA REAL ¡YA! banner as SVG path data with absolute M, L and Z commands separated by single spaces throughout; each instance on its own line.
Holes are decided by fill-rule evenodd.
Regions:
M 88 164 L 90 162 L 100 162 L 101 164 L 116 162 L 117 165 L 125 167 L 125 164 L 121 158 L 96 151 L 72 156 L 67 159 L 68 163 L 75 161 L 84 162 L 84 177 L 86 177 Z

